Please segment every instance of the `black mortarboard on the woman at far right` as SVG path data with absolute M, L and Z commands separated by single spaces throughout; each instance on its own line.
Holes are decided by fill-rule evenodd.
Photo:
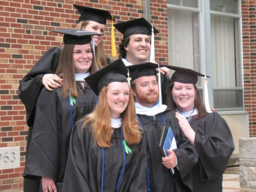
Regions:
M 196 72 L 192 69 L 181 68 L 179 66 L 171 65 L 166 65 L 166 67 L 175 70 L 174 74 L 172 74 L 171 82 L 180 82 L 182 84 L 196 84 L 198 81 L 198 76 L 205 77 L 205 74 Z

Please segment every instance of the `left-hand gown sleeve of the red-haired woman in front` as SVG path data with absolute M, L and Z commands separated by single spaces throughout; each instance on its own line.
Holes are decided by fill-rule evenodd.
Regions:
M 68 160 L 64 176 L 63 192 L 90 191 L 88 185 L 88 158 L 86 157 L 85 140 L 89 140 L 86 131 L 82 131 L 79 122 L 73 128 L 69 142 Z M 84 127 L 84 129 L 87 127 Z M 86 138 L 85 138 L 86 137 Z

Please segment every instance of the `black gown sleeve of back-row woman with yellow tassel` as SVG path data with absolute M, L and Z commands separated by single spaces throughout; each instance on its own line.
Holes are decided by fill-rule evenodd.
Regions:
M 36 62 L 30 72 L 20 82 L 18 95 L 26 107 L 27 124 L 32 126 L 35 116 L 36 98 L 42 90 L 44 74 L 54 73 L 59 62 L 61 47 L 52 47 Z

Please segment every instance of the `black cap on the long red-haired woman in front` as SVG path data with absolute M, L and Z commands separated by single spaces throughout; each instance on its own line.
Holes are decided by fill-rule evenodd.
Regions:
M 85 81 L 90 85 L 94 93 L 98 95 L 103 87 L 112 82 L 128 82 L 127 71 L 122 59 L 118 59 L 86 77 Z

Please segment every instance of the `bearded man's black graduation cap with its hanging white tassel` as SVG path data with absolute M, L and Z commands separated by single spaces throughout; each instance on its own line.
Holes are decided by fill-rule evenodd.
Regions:
M 143 64 L 126 66 L 129 69 L 129 73 L 131 74 L 131 82 L 136 80 L 139 77 L 156 76 L 156 74 L 158 75 L 159 107 L 162 106 L 161 74 L 160 72 L 156 72 L 156 69 L 157 68 L 159 69 L 160 66 L 162 67 L 165 65 L 156 64 L 154 62 L 145 62 Z

